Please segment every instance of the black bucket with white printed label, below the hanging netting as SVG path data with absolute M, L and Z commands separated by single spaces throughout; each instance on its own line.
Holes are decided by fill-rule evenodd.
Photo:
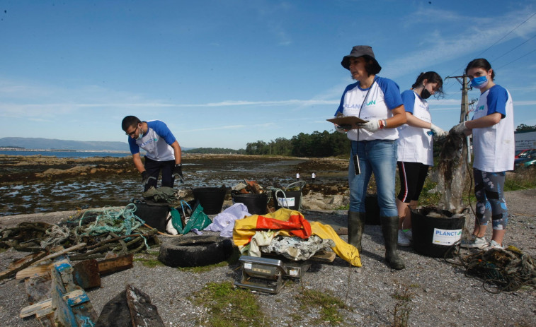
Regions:
M 425 256 L 443 258 L 448 249 L 462 238 L 465 215 L 452 218 L 449 211 L 441 211 L 448 218 L 430 217 L 433 208 L 411 210 L 411 232 L 414 249 Z M 452 251 L 447 257 L 452 257 Z

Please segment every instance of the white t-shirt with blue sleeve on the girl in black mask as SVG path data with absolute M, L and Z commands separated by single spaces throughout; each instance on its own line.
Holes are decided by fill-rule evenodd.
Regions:
M 405 90 L 402 93 L 404 109 L 411 112 L 414 117 L 432 122 L 428 102 L 421 99 L 413 90 Z M 421 162 L 423 165 L 433 166 L 433 138 L 426 132 L 430 129 L 409 126 L 404 124 L 398 127 L 399 139 L 397 140 L 398 161 Z

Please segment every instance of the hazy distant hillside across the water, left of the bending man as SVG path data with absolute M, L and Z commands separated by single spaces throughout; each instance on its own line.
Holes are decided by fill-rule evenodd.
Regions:
M 43 150 L 129 150 L 128 143 L 126 142 L 69 141 L 52 138 L 0 138 L 0 147 L 6 146 Z

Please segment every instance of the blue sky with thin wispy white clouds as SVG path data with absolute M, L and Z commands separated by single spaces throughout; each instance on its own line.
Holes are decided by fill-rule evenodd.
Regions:
M 462 99 L 446 77 L 481 57 L 515 126 L 536 125 L 536 0 L 0 0 L 0 138 L 127 142 L 127 115 L 164 121 L 183 148 L 333 131 L 354 82 L 341 60 L 362 44 L 401 92 L 445 78 L 428 101 L 442 129 Z

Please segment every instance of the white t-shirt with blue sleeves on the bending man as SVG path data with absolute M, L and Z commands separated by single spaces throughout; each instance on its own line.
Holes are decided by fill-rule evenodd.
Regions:
M 139 148 L 147 151 L 145 157 L 155 161 L 175 160 L 175 153 L 171 144 L 176 141 L 175 136 L 169 130 L 164 121 L 147 121 L 147 133 L 140 140 L 128 138 L 130 153 L 139 153 Z

